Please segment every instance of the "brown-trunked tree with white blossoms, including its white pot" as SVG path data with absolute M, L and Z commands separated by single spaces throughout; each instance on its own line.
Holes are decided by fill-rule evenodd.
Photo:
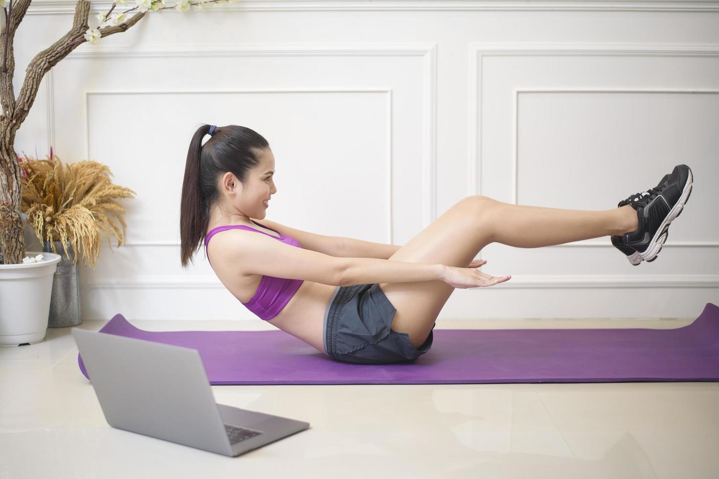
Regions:
M 30 0 L 0 0 L 0 6 L 5 14 L 4 28 L 0 31 L 0 55 L 2 56 L 0 59 L 0 85 L 5 85 L 4 88 L 0 88 L 0 344 L 37 343 L 45 338 L 50 297 L 47 297 L 47 304 L 42 301 L 45 299 L 45 292 L 50 294 L 52 276 L 58 269 L 58 264 L 62 264 L 59 254 L 45 253 L 40 256 L 40 251 L 25 251 L 21 211 L 22 169 L 18 162 L 19 157 L 14 150 L 15 135 L 35 102 L 45 73 L 49 72 L 79 45 L 85 42 L 94 44 L 101 37 L 127 32 L 150 11 L 170 8 L 187 11 L 191 9 L 191 6 L 203 8 L 203 4 L 217 1 L 220 0 L 198 0 L 196 2 L 176 0 L 173 6 L 165 6 L 165 0 L 135 0 L 134 3 L 137 6 L 113 12 L 115 6 L 127 4 L 127 0 L 116 0 L 107 13 L 97 14 L 98 26 L 91 28 L 88 25 L 90 1 L 78 0 L 68 32 L 30 60 L 25 68 L 26 75 L 22 80 L 22 87 L 15 95 L 12 85 L 18 85 L 19 82 L 14 81 L 14 39 L 19 25 L 27 13 Z M 226 1 L 232 3 L 234 0 Z M 122 10 L 122 8 L 118 10 Z M 133 11 L 134 14 L 129 16 Z M 52 158 L 51 150 L 50 159 Z M 58 215 L 59 213 L 54 210 L 53 214 Z M 87 216 L 87 213 L 85 215 Z M 86 220 L 86 224 L 93 223 Z M 40 226 L 42 224 L 38 227 Z M 62 229 L 60 227 L 60 230 Z M 36 233 L 38 231 L 36 228 Z M 38 237 L 41 237 L 42 234 L 44 233 L 40 231 Z M 91 238 L 93 234 L 88 232 L 86 237 Z M 59 240 L 64 246 L 62 236 L 59 237 Z M 55 241 L 55 236 L 52 236 L 49 241 Z M 55 246 L 51 246 L 51 248 L 53 251 L 57 250 Z M 26 256 L 26 253 L 30 256 Z M 29 261 L 31 257 L 33 261 Z M 20 274 L 18 271 L 14 271 L 15 269 L 24 272 Z M 34 284 L 34 286 L 30 284 Z M 8 305 L 10 302 L 24 303 L 11 309 Z M 46 325 L 42 325 L 43 308 L 45 308 L 44 322 Z M 26 325 L 19 327 L 14 324 L 19 320 L 18 318 L 25 317 L 28 319 L 21 320 L 27 321 Z M 42 328 L 40 328 L 41 325 Z

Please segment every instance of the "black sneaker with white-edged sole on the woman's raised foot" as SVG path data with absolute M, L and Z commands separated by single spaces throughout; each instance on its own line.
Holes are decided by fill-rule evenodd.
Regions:
M 644 261 L 652 261 L 667 241 L 669 224 L 677 218 L 692 192 L 692 169 L 678 164 L 664 184 L 636 193 L 619 202 L 636 210 L 639 227 L 623 236 L 624 244 L 638 251 Z

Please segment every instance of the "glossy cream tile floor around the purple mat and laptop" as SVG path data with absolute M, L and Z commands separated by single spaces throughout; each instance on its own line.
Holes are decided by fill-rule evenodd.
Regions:
M 260 321 L 131 321 L 261 330 Z M 440 328 L 692 320 L 441 320 Z M 105 321 L 85 321 L 99 330 Z M 211 386 L 310 429 L 226 457 L 109 427 L 70 328 L 0 348 L 0 478 L 719 478 L 719 383 Z

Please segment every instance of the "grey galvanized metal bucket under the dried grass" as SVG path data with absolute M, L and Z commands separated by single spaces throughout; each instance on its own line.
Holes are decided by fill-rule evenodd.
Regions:
M 47 317 L 47 327 L 68 327 L 81 324 L 80 317 L 80 279 L 78 266 L 73 264 L 75 254 L 73 246 L 62 241 L 54 241 L 55 251 L 61 256 L 55 277 L 52 279 L 52 296 L 50 297 L 50 315 Z M 52 252 L 50 241 L 43 241 L 42 251 Z M 67 256 L 70 256 L 70 259 Z

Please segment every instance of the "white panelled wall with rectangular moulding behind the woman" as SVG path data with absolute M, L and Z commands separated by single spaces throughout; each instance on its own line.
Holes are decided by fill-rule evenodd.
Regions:
M 110 5 L 93 2 L 91 27 Z M 16 95 L 73 10 L 32 2 L 15 42 Z M 398 245 L 467 195 L 605 210 L 689 164 L 690 203 L 656 261 L 632 266 L 608 236 L 493 243 L 483 269 L 513 279 L 456 290 L 440 319 L 697 317 L 719 302 L 718 55 L 716 1 L 168 9 L 56 65 L 16 150 L 45 157 L 52 144 L 63 162 L 108 164 L 137 192 L 122 200 L 127 243 L 105 242 L 97 269 L 81 266 L 83 319 L 256 320 L 204 251 L 180 267 L 183 169 L 204 123 L 270 141 L 278 193 L 267 218 Z M 40 249 L 29 228 L 26 238 Z

